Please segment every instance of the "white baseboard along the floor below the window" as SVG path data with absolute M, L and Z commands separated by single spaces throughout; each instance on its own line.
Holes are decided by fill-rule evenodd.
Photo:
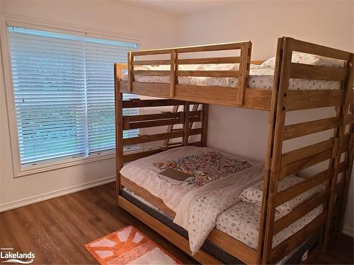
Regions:
M 21 199 L 18 201 L 11 201 L 6 204 L 0 204 L 0 212 L 8 211 L 14 208 L 26 206 L 28 204 L 35 204 L 40 201 L 46 201 L 47 199 L 52 199 L 55 197 L 63 196 L 66 194 L 71 194 L 73 192 L 79 192 L 83 189 L 89 189 L 92 187 L 100 186 L 110 182 L 115 182 L 115 176 L 105 177 L 103 179 L 94 180 L 93 182 L 86 182 L 84 184 L 75 185 L 72 187 L 67 187 L 64 189 L 58 189 L 54 192 L 48 192 L 46 194 L 40 194 L 37 196 L 32 196 L 26 199 Z

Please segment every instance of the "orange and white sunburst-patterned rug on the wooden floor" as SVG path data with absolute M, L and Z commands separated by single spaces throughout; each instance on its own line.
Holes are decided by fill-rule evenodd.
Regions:
M 85 247 L 100 264 L 182 264 L 132 225 Z

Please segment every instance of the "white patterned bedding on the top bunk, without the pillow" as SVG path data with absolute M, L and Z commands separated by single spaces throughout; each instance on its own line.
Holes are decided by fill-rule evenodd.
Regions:
M 223 66 L 223 65 L 222 65 Z M 180 70 L 237 70 L 238 64 L 234 66 L 222 67 L 217 64 L 208 64 L 202 66 L 180 66 Z M 135 70 L 169 70 L 169 66 L 137 66 Z M 249 71 L 249 80 L 247 87 L 249 88 L 266 88 L 273 87 L 273 69 L 258 69 L 257 66 L 251 67 Z M 127 81 L 127 74 L 122 76 L 123 81 Z M 135 81 L 143 83 L 170 83 L 169 76 L 142 76 L 135 75 Z M 200 77 L 200 76 L 179 76 L 178 83 L 181 85 L 198 85 L 198 86 L 224 86 L 236 88 L 239 85 L 238 78 L 218 78 L 218 77 Z M 335 90 L 341 88 L 341 81 L 327 81 L 314 79 L 298 79 L 290 78 L 290 90 Z

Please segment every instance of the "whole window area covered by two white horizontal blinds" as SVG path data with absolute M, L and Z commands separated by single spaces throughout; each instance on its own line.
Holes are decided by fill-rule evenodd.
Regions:
M 21 164 L 115 148 L 113 63 L 126 62 L 137 45 L 15 27 L 8 33 Z

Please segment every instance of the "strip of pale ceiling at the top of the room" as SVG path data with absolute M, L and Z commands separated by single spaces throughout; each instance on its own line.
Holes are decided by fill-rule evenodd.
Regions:
M 181 16 L 186 13 L 231 4 L 234 0 L 115 0 L 122 4 Z

